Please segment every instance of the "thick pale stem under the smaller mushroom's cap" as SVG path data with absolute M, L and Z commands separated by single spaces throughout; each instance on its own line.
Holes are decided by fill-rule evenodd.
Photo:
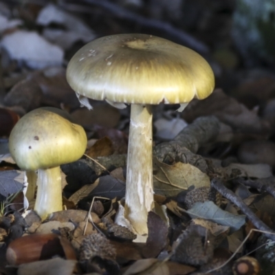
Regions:
M 38 170 L 37 195 L 34 210 L 42 221 L 52 212 L 61 211 L 62 186 L 60 166 Z

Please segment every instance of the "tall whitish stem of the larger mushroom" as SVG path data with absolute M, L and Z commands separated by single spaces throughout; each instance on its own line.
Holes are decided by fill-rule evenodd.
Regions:
M 137 234 L 148 234 L 153 208 L 152 112 L 150 105 L 131 104 L 126 173 L 125 217 Z

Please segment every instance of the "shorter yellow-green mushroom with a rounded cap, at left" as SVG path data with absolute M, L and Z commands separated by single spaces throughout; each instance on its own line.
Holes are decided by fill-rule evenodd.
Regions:
M 42 220 L 63 209 L 60 165 L 79 159 L 87 146 L 84 129 L 61 112 L 56 108 L 30 111 L 10 133 L 10 154 L 17 165 L 38 170 L 34 210 Z

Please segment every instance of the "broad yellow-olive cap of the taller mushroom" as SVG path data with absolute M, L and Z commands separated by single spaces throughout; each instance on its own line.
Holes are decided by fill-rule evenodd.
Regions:
M 91 41 L 69 62 L 67 81 L 87 98 L 135 104 L 190 102 L 214 89 L 214 74 L 204 58 L 147 34 Z

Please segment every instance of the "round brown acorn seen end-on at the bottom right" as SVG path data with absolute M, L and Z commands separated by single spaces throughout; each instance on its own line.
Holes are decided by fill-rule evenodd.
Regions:
M 234 275 L 259 275 L 261 267 L 255 258 L 243 256 L 234 262 L 232 271 Z

